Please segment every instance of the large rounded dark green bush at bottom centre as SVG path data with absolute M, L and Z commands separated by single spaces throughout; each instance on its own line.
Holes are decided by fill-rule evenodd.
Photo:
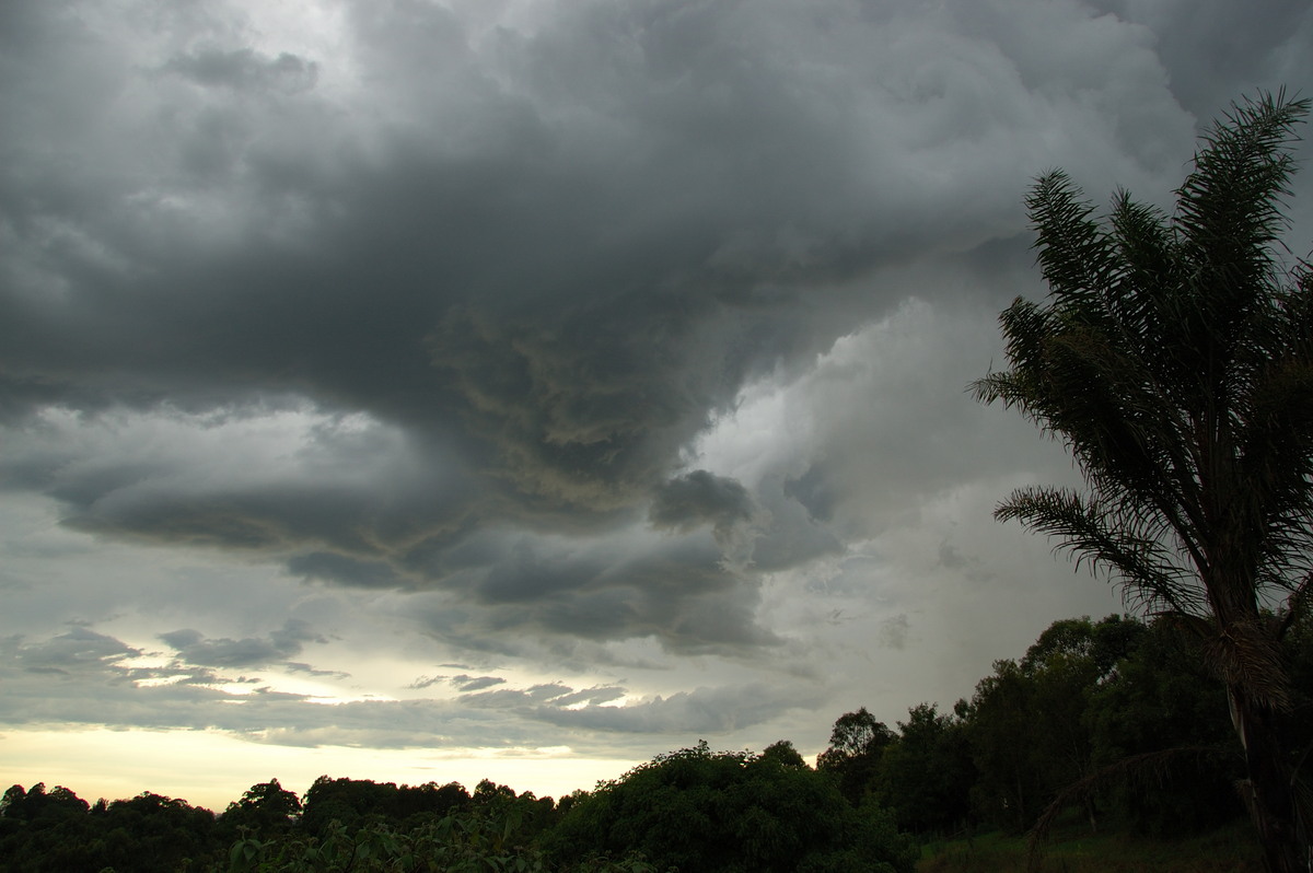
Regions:
M 827 776 L 781 757 L 705 742 L 660 755 L 574 803 L 544 845 L 566 862 L 638 851 L 662 870 L 911 869 L 888 810 L 853 807 Z

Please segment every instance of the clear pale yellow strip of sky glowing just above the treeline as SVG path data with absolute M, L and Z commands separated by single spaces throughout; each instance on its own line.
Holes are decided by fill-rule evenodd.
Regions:
M 247 742 L 218 731 L 24 729 L 0 734 L 0 790 L 63 785 L 77 797 L 119 799 L 152 792 L 222 813 L 252 785 L 277 778 L 305 794 L 319 776 L 398 785 L 490 778 L 516 792 L 563 797 L 616 778 L 641 761 L 570 756 L 567 748 L 306 748 Z

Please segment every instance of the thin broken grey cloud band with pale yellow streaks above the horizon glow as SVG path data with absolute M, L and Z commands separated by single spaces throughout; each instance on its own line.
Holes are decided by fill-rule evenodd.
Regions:
M 193 634 L 171 637 L 171 646 L 184 647 L 164 667 L 122 663 L 146 652 L 84 628 L 46 639 L 0 639 L 0 677 L 7 688 L 0 722 L 219 729 L 310 746 L 570 746 L 588 755 L 616 754 L 624 736 L 635 734 L 721 734 L 810 700 L 798 688 L 754 685 L 624 701 L 626 691 L 616 685 L 503 688 L 502 677 L 461 675 L 433 683 L 454 694 L 326 705 L 306 694 L 272 691 L 259 676 L 225 675 L 207 666 L 236 667 L 268 660 L 268 655 L 234 659 L 223 651 L 215 658 L 215 647 L 197 647 Z

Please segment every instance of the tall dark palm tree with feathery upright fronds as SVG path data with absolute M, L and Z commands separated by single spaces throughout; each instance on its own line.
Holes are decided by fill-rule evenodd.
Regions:
M 1049 295 L 999 320 L 974 382 L 1061 438 L 1086 490 L 1019 488 L 995 517 L 1058 541 L 1207 641 L 1270 870 L 1309 870 L 1313 805 L 1283 743 L 1281 639 L 1313 580 L 1313 268 L 1283 263 L 1308 100 L 1259 95 L 1204 134 L 1173 215 L 1120 192 L 1100 219 L 1062 172 L 1027 207 Z

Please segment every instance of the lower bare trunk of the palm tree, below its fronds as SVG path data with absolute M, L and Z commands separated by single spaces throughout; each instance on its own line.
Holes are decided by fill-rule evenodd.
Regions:
M 1246 778 L 1238 788 L 1258 831 L 1264 866 L 1268 873 L 1309 873 L 1313 847 L 1297 826 L 1295 775 L 1280 740 L 1280 715 L 1238 685 L 1228 687 L 1228 700 L 1245 750 Z

